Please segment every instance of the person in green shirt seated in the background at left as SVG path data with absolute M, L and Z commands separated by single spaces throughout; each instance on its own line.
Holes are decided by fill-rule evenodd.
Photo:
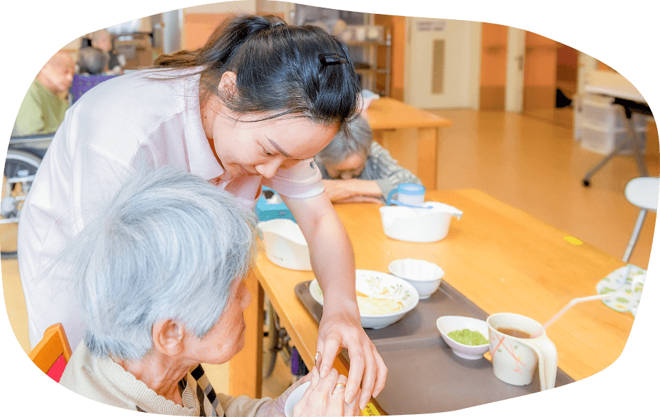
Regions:
M 58 129 L 69 108 L 66 95 L 75 70 L 74 60 L 63 51 L 48 60 L 28 88 L 12 136 L 52 133 Z

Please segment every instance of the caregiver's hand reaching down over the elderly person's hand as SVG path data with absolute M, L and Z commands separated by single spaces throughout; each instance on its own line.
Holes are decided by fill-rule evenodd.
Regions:
M 321 377 L 330 372 L 341 347 L 347 348 L 351 361 L 345 400 L 348 403 L 357 401 L 360 409 L 365 409 L 369 399 L 372 396 L 375 398 L 385 388 L 387 366 L 365 333 L 359 316 L 354 318 L 324 306 L 317 341 L 317 365 Z

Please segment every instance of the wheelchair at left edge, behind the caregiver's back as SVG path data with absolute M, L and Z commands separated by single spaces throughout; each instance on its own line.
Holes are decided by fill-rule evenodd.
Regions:
M 17 256 L 18 222 L 23 202 L 55 132 L 9 139 L 0 196 L 0 257 Z

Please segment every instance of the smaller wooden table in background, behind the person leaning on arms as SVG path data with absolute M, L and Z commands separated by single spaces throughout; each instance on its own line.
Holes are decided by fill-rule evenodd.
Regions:
M 427 189 L 435 190 L 440 128 L 451 126 L 452 122 L 389 97 L 372 101 L 365 116 L 374 132 L 374 140 L 386 147 L 393 158 L 401 161 L 411 149 L 417 148 L 416 169 L 406 168 L 411 169 Z M 401 134 L 402 129 L 409 128 L 417 129 L 416 143 Z

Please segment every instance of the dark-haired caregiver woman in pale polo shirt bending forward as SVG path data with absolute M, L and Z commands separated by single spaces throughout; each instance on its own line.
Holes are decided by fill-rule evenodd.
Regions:
M 346 347 L 345 400 L 361 383 L 364 409 L 385 386 L 387 368 L 361 327 L 352 245 L 313 163 L 359 111 L 345 44 L 314 26 L 239 16 L 204 47 L 155 64 L 76 101 L 36 174 L 18 237 L 31 345 L 55 322 L 72 345 L 83 337 L 69 277 L 42 276 L 53 255 L 140 161 L 171 165 L 251 208 L 261 185 L 279 192 L 309 244 L 326 300 L 317 342 L 321 376 Z

